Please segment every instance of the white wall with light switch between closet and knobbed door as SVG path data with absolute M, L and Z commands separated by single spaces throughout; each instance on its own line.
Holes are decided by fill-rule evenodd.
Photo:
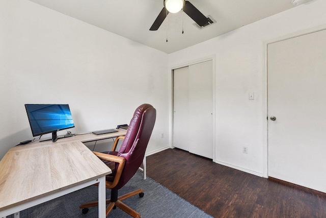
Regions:
M 216 162 L 263 175 L 264 41 L 323 25 L 325 8 L 326 1 L 316 0 L 169 55 L 169 69 L 215 55 Z M 255 92 L 254 101 L 249 92 Z

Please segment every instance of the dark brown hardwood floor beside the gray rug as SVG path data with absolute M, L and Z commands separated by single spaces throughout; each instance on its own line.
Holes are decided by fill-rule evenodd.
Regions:
M 179 149 L 148 156 L 147 175 L 214 217 L 326 217 L 325 193 L 244 173 Z

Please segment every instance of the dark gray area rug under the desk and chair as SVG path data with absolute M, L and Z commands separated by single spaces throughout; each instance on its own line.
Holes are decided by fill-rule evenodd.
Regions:
M 174 192 L 170 191 L 151 178 L 143 179 L 143 174 L 138 172 L 133 178 L 119 190 L 119 196 L 138 188 L 143 188 L 145 196 L 130 197 L 123 202 L 137 210 L 143 218 L 158 217 L 212 217 L 198 207 L 185 201 Z M 97 217 L 97 207 L 90 207 L 87 214 L 82 214 L 79 205 L 97 200 L 97 186 L 89 186 L 74 191 L 68 195 L 53 199 L 43 204 L 31 207 L 20 212 L 20 217 L 35 218 L 63 218 L 63 217 Z M 110 198 L 110 190 L 106 190 L 107 198 Z M 9 216 L 10 218 L 13 215 Z M 119 208 L 112 210 L 107 217 L 130 217 Z

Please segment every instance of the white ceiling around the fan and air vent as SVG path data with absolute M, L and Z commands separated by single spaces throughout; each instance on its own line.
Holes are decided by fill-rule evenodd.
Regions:
M 168 23 L 165 20 L 157 31 L 149 31 L 163 0 L 30 1 L 168 54 L 294 7 L 291 0 L 189 0 L 216 23 L 199 30 L 195 21 L 178 12 L 170 13 Z

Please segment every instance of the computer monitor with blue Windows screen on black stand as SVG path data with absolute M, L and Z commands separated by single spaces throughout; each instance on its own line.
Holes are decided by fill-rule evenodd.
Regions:
M 25 104 L 33 136 L 52 133 L 52 141 L 57 141 L 57 131 L 73 128 L 69 105 Z

